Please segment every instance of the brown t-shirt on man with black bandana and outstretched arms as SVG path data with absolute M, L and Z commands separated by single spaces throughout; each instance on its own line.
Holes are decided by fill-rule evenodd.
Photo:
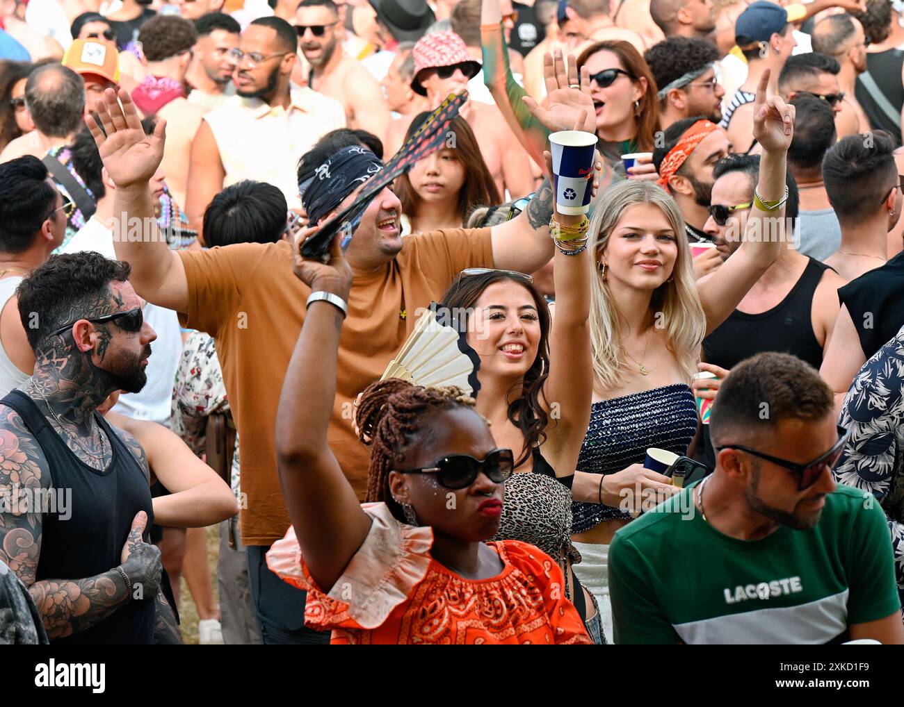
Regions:
M 466 267 L 492 267 L 489 228 L 407 236 L 401 253 L 356 276 L 339 340 L 336 397 L 328 441 L 358 498 L 367 490 L 370 451 L 352 429 L 354 398 L 382 376 L 414 329 L 419 308 L 438 301 Z M 285 242 L 179 251 L 188 281 L 184 326 L 216 340 L 223 382 L 240 436 L 242 542 L 268 545 L 289 524 L 279 489 L 275 428 L 289 358 L 311 293 L 292 273 Z M 317 372 L 311 371 L 312 376 Z M 305 395 L 304 389 L 297 392 Z

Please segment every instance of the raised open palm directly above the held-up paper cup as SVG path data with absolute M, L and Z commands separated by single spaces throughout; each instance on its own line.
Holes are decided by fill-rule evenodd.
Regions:
M 590 98 L 590 77 L 587 67 L 578 73 L 578 60 L 569 55 L 568 68 L 556 47 L 552 54 L 543 55 L 543 80 L 546 83 L 545 107 L 540 106 L 530 96 L 523 98 L 524 104 L 551 133 L 560 130 L 584 130 L 597 132 L 597 111 Z M 571 88 L 576 87 L 576 88 Z M 583 113 L 583 124 L 576 123 Z

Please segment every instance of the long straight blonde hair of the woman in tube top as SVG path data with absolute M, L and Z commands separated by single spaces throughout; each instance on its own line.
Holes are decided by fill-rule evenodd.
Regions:
M 590 219 L 589 248 L 599 264 L 609 237 L 625 209 L 634 204 L 654 204 L 662 210 L 675 232 L 678 256 L 670 279 L 653 293 L 650 310 L 655 312 L 655 326 L 664 326 L 668 349 L 678 360 L 684 377 L 690 382 L 697 372 L 700 348 L 706 335 L 706 314 L 693 279 L 691 247 L 684 235 L 684 219 L 673 198 L 649 181 L 621 181 L 609 189 L 599 201 Z M 626 363 L 621 355 L 622 323 L 616 303 L 603 279 L 599 265 L 590 284 L 590 345 L 593 372 L 605 389 L 619 385 Z M 660 316 L 661 315 L 661 316 Z M 662 325 L 659 323 L 662 321 Z

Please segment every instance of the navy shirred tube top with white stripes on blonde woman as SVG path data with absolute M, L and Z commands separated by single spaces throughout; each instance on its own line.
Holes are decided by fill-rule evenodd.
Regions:
M 646 458 L 647 447 L 684 454 L 697 431 L 697 404 L 690 386 L 645 390 L 594 403 L 587 436 L 580 448 L 578 470 L 614 474 Z M 584 533 L 604 520 L 631 519 L 617 508 L 575 502 L 573 533 Z

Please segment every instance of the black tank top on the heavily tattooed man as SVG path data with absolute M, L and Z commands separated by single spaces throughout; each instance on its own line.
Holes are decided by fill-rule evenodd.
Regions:
M 119 435 L 95 413 L 113 446 L 107 470 L 91 469 L 69 450 L 34 401 L 13 390 L 0 401 L 22 416 L 51 470 L 52 488 L 71 489 L 66 507 L 42 514 L 41 559 L 36 579 L 80 580 L 109 572 L 120 563 L 122 546 L 138 511 L 154 521 L 145 473 Z M 66 517 L 71 514 L 70 517 Z M 154 598 L 128 600 L 107 619 L 53 644 L 149 644 L 154 639 Z

